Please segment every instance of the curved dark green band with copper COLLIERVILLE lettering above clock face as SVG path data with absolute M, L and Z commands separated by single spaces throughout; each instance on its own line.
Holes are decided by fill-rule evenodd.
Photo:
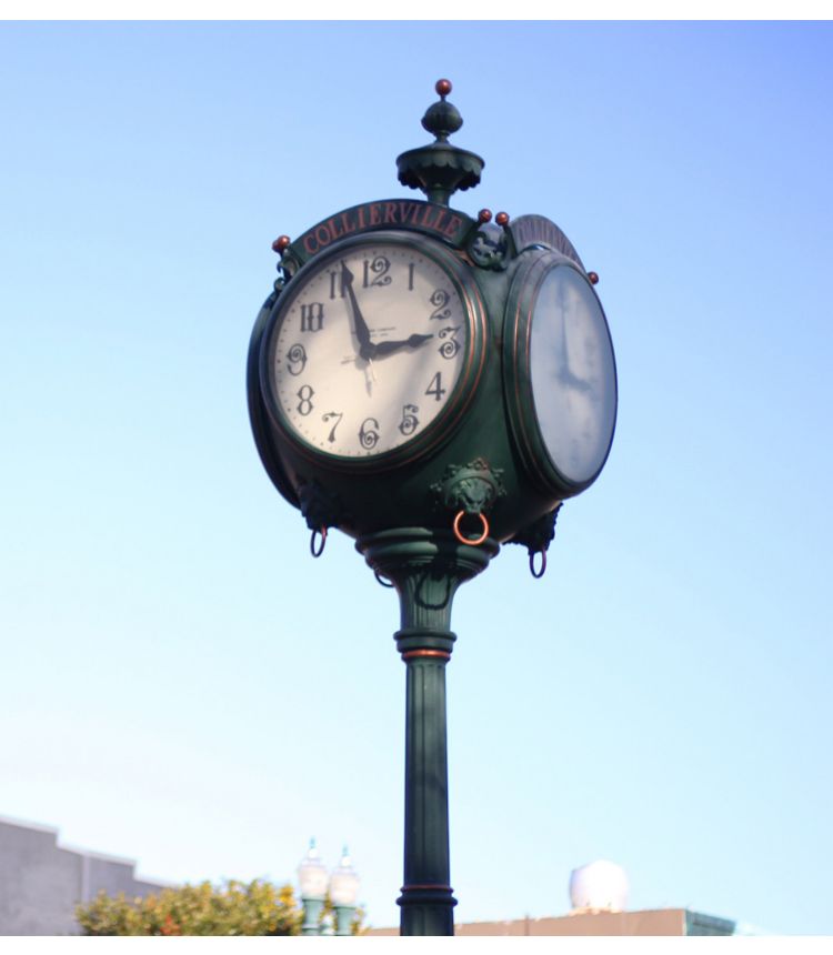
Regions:
M 407 202 L 392 200 L 388 202 L 365 202 L 354 205 L 343 212 L 337 212 L 330 219 L 313 225 L 295 243 L 305 255 L 314 255 L 325 249 L 331 242 L 343 239 L 352 232 L 364 232 L 387 225 L 411 227 L 424 232 L 433 232 L 445 239 L 453 240 L 460 232 L 464 220 L 450 209 L 432 205 L 430 202 Z

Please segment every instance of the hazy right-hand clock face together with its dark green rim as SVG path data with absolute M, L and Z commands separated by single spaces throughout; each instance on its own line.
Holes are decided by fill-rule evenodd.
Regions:
M 548 489 L 578 493 L 602 470 L 616 420 L 602 306 L 570 260 L 546 252 L 519 270 L 508 321 L 505 375 L 522 454 Z

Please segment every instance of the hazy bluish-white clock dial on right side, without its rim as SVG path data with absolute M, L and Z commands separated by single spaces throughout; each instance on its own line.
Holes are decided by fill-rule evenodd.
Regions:
M 616 373 L 608 323 L 588 280 L 551 269 L 535 298 L 530 330 L 535 416 L 555 468 L 576 484 L 608 456 L 616 418 Z

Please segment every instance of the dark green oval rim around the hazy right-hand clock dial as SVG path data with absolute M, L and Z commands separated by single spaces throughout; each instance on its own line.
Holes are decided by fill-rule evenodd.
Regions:
M 584 270 L 560 252 L 536 250 L 534 253 L 528 254 L 531 254 L 531 258 L 519 265 L 512 279 L 503 319 L 503 386 L 506 410 L 515 445 L 530 478 L 543 491 L 554 493 L 559 499 L 571 497 L 580 494 L 596 480 L 613 445 L 619 408 L 615 352 L 613 351 L 613 340 L 604 308 Z M 558 462 L 553 460 L 541 433 L 532 389 L 530 365 L 532 321 L 541 286 L 546 277 L 555 269 L 572 269 L 586 282 L 599 304 L 613 364 L 613 425 L 599 466 L 584 481 L 574 481 L 568 478 L 559 468 Z

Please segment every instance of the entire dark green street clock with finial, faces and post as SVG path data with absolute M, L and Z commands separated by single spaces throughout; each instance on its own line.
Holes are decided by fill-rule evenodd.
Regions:
M 342 209 L 273 243 L 279 278 L 249 348 L 263 465 L 300 509 L 315 556 L 338 529 L 395 587 L 407 664 L 403 935 L 452 935 L 444 667 L 458 586 L 503 543 L 541 576 L 562 502 L 613 441 L 608 322 L 564 233 L 538 214 L 452 209 L 483 160 L 449 143 L 446 99 L 425 147 L 397 159 L 426 201 Z

